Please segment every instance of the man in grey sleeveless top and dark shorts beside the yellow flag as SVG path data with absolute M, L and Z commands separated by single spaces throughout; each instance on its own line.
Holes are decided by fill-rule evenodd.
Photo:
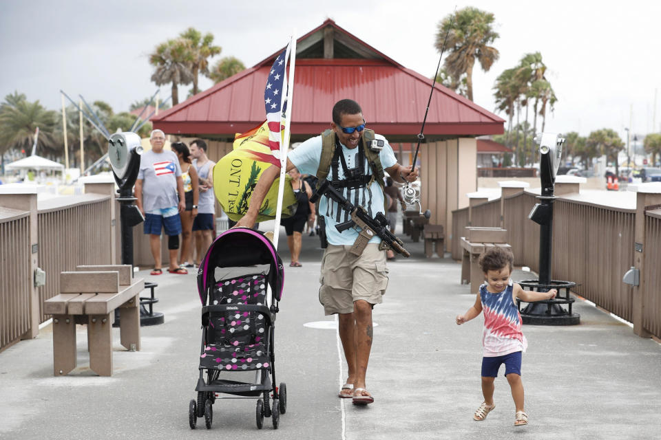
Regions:
M 201 139 L 191 142 L 191 156 L 193 156 L 193 166 L 200 177 L 198 215 L 193 220 L 193 235 L 196 245 L 195 264 L 199 266 L 213 240 L 213 214 L 216 213 L 216 197 L 213 194 L 213 166 L 216 163 L 207 157 L 207 142 Z

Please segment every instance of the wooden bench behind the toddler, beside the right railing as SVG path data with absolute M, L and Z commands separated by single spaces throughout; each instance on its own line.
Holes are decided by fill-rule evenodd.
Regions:
M 465 236 L 461 237 L 460 243 L 463 248 L 461 283 L 470 283 L 471 290 L 477 292 L 478 286 L 484 281 L 484 274 L 478 264 L 479 256 L 489 248 L 510 249 L 511 246 L 507 244 L 507 230 L 467 226 Z

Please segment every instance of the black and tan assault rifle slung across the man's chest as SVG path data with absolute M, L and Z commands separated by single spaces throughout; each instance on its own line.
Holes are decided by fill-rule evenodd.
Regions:
M 348 201 L 342 193 L 336 190 L 328 180 L 324 181 L 324 183 L 317 188 L 317 192 L 311 197 L 310 201 L 312 203 L 317 203 L 317 200 L 322 195 L 326 195 L 329 199 L 336 201 L 340 208 L 351 214 L 350 220 L 335 225 L 338 232 L 354 227 L 360 229 L 358 238 L 355 243 L 353 243 L 350 253 L 360 255 L 365 249 L 367 243 L 369 243 L 373 236 L 377 235 L 395 252 L 398 252 L 403 256 L 411 256 L 410 252 L 404 249 L 404 243 L 388 230 L 388 219 L 386 219 L 384 214 L 379 212 L 375 218 L 370 217 L 365 208 L 362 206 L 353 206 L 353 203 Z

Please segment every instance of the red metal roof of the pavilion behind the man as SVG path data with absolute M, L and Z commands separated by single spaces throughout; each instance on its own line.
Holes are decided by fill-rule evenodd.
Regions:
M 420 131 L 431 80 L 377 52 L 326 20 L 319 29 L 360 43 L 373 58 L 297 58 L 294 76 L 291 133 L 320 133 L 330 126 L 337 100 L 352 98 L 363 109 L 368 127 L 383 135 L 412 135 Z M 207 91 L 152 118 L 154 128 L 166 133 L 243 133 L 266 118 L 264 85 L 278 50 L 257 65 L 214 85 Z M 425 125 L 425 135 L 486 135 L 503 133 L 499 116 L 470 100 L 436 85 Z

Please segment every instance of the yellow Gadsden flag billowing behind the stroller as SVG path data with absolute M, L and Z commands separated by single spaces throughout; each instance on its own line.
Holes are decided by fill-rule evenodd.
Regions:
M 247 133 L 236 135 L 233 150 L 213 167 L 213 190 L 227 217 L 238 221 L 246 213 L 255 185 L 264 170 L 271 164 L 280 166 L 280 159 L 274 153 L 280 152 L 273 152 L 269 148 L 269 127 L 266 122 Z M 256 221 L 275 219 L 279 181 L 280 178 L 275 179 L 269 188 Z M 296 197 L 291 188 L 291 178 L 286 175 L 282 218 L 290 217 L 295 210 Z

